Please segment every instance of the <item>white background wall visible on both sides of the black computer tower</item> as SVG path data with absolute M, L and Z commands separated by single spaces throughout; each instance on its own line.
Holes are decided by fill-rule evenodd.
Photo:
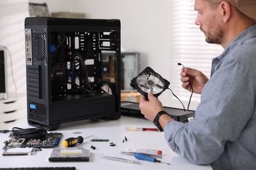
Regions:
M 167 0 L 5 0 L 0 1 L 0 45 L 11 50 L 14 78 L 18 92 L 26 91 L 24 58 L 24 18 L 28 16 L 28 2 L 47 3 L 49 12 L 84 12 L 86 18 L 121 20 L 121 46 L 127 52 L 140 52 L 140 71 L 152 67 L 168 79 L 169 73 L 169 9 Z M 4 25 L 4 26 L 3 26 Z M 7 36 L 8 35 L 8 36 Z M 9 71 L 10 72 L 10 71 Z M 10 74 L 9 74 L 10 75 Z M 10 90 L 14 85 L 9 79 Z M 170 93 L 160 99 L 166 106 Z M 180 104 L 178 103 L 178 107 Z

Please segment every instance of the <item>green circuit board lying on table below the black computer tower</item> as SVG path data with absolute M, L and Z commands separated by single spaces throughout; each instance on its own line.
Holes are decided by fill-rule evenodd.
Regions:
M 54 132 L 48 133 L 45 139 L 34 139 L 34 138 L 15 138 L 11 137 L 9 141 L 5 141 L 3 150 L 9 148 L 54 148 L 60 143 L 62 133 Z

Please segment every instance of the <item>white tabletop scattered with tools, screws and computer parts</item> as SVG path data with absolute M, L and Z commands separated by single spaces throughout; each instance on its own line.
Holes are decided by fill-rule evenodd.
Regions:
M 26 118 L 16 124 L 16 127 L 28 128 Z M 91 139 L 85 139 L 82 144 L 76 147 L 83 147 L 90 150 L 90 160 L 84 162 L 50 162 L 48 160 L 53 148 L 43 148 L 42 151 L 37 151 L 32 156 L 2 156 L 0 155 L 0 167 L 70 167 L 75 166 L 76 169 L 212 169 L 210 165 L 193 165 L 181 158 L 173 152 L 167 145 L 163 133 L 159 131 L 126 131 L 125 127 L 154 127 L 152 122 L 140 118 L 131 118 L 121 116 L 119 120 L 83 120 L 62 124 L 56 132 L 63 133 L 62 139 L 58 147 L 62 147 L 62 141 L 68 137 L 77 137 L 79 135 L 87 137 L 95 135 L 100 139 L 110 139 L 109 142 L 91 142 Z M 74 132 L 81 132 L 74 134 Z M 0 148 L 3 148 L 4 141 L 9 140 L 9 133 L 0 133 Z M 123 143 L 123 139 L 127 137 L 127 141 Z M 116 146 L 110 146 L 110 143 L 115 143 Z M 96 149 L 91 149 L 91 145 Z M 133 156 L 120 154 L 127 148 L 144 148 L 162 150 L 162 161 L 171 163 L 166 165 L 163 163 L 152 163 L 150 161 L 137 160 Z M 140 161 L 140 165 L 123 163 L 119 161 L 105 160 L 100 158 L 98 154 L 106 156 L 115 156 L 126 158 L 129 160 Z

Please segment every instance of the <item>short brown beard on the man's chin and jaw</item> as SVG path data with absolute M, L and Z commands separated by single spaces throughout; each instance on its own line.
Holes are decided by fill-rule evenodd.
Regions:
M 205 34 L 205 41 L 210 44 L 221 44 L 223 42 L 224 31 L 217 24 L 213 24 L 213 22 L 209 22 L 208 31 L 203 31 L 200 26 L 200 30 Z

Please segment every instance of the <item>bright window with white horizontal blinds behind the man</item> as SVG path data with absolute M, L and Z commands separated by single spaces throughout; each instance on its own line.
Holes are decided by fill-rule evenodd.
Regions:
M 182 63 L 185 67 L 192 67 L 202 71 L 210 77 L 211 60 L 223 52 L 219 44 L 208 44 L 198 25 L 195 24 L 197 11 L 194 10 L 194 0 L 173 0 L 170 7 L 170 78 L 173 92 L 187 107 L 190 92 L 181 87 L 180 72 Z M 171 100 L 176 100 L 171 97 Z M 193 94 L 190 109 L 196 109 L 200 103 L 200 95 Z

